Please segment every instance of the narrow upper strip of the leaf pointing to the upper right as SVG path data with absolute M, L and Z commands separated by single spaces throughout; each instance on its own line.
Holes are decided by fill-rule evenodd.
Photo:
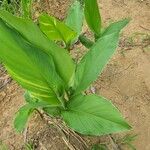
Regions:
M 122 28 L 124 28 L 128 23 L 129 19 L 123 19 L 114 23 L 111 23 L 101 34 L 101 36 L 109 35 L 115 32 L 120 32 Z

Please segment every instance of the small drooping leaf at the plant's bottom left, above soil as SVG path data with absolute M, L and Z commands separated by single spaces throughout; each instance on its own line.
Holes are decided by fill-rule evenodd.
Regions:
M 17 132 L 22 132 L 28 122 L 29 116 L 32 114 L 34 108 L 26 104 L 19 109 L 14 120 L 14 127 Z

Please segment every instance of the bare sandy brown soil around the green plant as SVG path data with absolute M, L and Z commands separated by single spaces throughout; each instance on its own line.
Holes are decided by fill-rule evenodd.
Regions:
M 49 0 L 49 3 L 50 6 L 47 6 L 41 1 L 45 10 L 51 9 L 50 14 L 64 18 L 70 1 Z M 133 126 L 129 133 L 138 135 L 134 142 L 137 150 L 150 150 L 150 2 L 101 0 L 100 8 L 105 25 L 125 17 L 132 18 L 132 21 L 122 34 L 115 56 L 95 82 L 96 92 L 111 99 Z M 0 78 L 1 86 L 8 77 L 1 72 L 0 75 L 3 77 Z M 16 134 L 12 126 L 15 112 L 24 103 L 22 94 L 23 91 L 14 82 L 0 91 L 0 141 L 10 150 L 25 149 L 24 136 Z M 36 145 L 36 149 L 67 149 L 60 132 L 44 124 L 37 114 L 31 119 L 28 131 L 28 139 Z M 117 134 L 114 138 L 121 136 Z M 89 145 L 101 142 L 111 144 L 108 137 L 86 137 L 85 140 Z M 72 143 L 83 149 L 77 141 Z M 112 147 L 110 149 L 113 150 Z M 122 150 L 126 149 L 129 148 L 122 147 Z

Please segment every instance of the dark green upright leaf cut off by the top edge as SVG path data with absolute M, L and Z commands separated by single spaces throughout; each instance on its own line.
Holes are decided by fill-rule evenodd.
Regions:
M 99 36 L 101 33 L 101 17 L 97 0 L 84 0 L 85 2 L 85 19 L 89 28 Z

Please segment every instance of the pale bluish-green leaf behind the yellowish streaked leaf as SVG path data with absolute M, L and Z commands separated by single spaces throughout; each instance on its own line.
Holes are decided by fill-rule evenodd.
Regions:
M 71 8 L 69 9 L 67 18 L 65 20 L 65 24 L 77 33 L 77 36 L 72 42 L 77 41 L 82 31 L 83 19 L 84 19 L 83 6 L 79 1 L 75 0 Z

